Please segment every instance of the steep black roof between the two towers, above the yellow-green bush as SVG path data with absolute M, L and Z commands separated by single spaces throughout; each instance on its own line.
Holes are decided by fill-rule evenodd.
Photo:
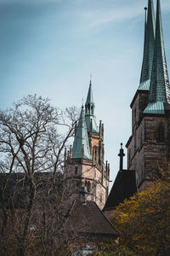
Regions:
M 117 173 L 110 195 L 105 203 L 104 211 L 115 209 L 125 199 L 137 192 L 135 171 L 122 170 Z

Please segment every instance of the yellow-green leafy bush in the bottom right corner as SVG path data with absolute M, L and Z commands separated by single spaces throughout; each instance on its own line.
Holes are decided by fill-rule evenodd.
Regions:
M 124 201 L 116 208 L 112 223 L 122 234 L 122 247 L 138 255 L 169 255 L 169 178 L 161 178 L 144 192 Z

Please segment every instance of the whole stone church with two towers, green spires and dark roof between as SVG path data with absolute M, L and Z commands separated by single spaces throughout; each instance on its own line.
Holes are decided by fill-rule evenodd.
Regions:
M 143 191 L 160 174 L 170 156 L 170 85 L 164 48 L 161 5 L 148 0 L 144 21 L 144 56 L 139 87 L 133 96 L 132 135 L 127 141 L 127 170 L 120 170 L 108 196 L 110 166 L 104 164 L 104 126 L 96 125 L 90 82 L 85 109 L 82 107 L 73 148 L 65 154 L 65 177 L 77 180 L 77 195 L 84 189 L 109 216 L 116 206 Z

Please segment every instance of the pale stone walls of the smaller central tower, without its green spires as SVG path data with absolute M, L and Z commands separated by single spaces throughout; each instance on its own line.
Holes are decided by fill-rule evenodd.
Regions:
M 76 186 L 79 186 L 79 191 L 85 186 L 88 190 L 86 199 L 95 201 L 98 207 L 103 209 L 108 196 L 110 178 L 109 166 L 104 164 L 103 133 L 89 132 L 88 139 L 93 159 L 65 160 L 65 178 L 67 180 L 77 180 Z M 80 195 L 78 196 L 80 197 Z

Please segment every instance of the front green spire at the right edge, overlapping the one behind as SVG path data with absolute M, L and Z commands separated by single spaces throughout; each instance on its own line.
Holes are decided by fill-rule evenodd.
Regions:
M 156 40 L 153 68 L 150 81 L 148 106 L 144 113 L 165 113 L 170 103 L 170 86 L 167 73 L 167 61 L 163 42 L 160 0 L 156 8 Z

